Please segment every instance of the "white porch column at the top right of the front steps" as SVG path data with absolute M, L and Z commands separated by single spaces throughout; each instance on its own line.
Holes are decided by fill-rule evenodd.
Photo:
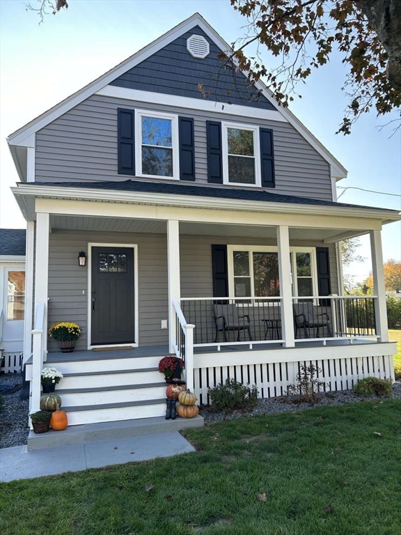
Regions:
M 168 348 L 175 352 L 174 300 L 180 300 L 180 224 L 174 219 L 167 222 L 167 266 L 168 266 Z

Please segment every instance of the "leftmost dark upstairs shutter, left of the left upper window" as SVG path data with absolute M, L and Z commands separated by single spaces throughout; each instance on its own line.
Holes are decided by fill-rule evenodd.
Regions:
M 118 173 L 135 174 L 135 123 L 133 109 L 117 109 Z

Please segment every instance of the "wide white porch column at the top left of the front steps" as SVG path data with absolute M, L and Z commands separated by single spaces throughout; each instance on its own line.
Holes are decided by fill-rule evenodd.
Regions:
M 45 305 L 43 320 L 42 348 L 44 359 L 47 353 L 47 296 L 49 280 L 49 214 L 36 214 L 36 255 L 35 255 L 35 320 L 38 303 Z

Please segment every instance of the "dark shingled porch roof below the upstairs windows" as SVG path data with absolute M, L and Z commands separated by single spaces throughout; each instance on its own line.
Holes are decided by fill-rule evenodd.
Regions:
M 119 192 L 142 192 L 142 193 L 160 193 L 173 195 L 191 195 L 214 197 L 215 199 L 236 199 L 239 201 L 262 201 L 267 203 L 288 203 L 288 204 L 306 204 L 313 206 L 338 206 L 343 208 L 368 208 L 370 210 L 377 208 L 373 206 L 360 206 L 356 204 L 335 203 L 333 201 L 323 201 L 320 199 L 309 199 L 308 197 L 297 197 L 294 195 L 283 195 L 279 193 L 267 192 L 265 189 L 239 189 L 232 187 L 210 187 L 190 185 L 188 183 L 173 184 L 171 182 L 145 182 L 140 180 L 123 180 L 113 182 L 63 182 L 63 183 L 45 183 L 37 182 L 35 185 L 58 186 L 58 187 L 77 187 L 86 189 L 108 189 Z M 396 210 L 394 210 L 396 212 Z

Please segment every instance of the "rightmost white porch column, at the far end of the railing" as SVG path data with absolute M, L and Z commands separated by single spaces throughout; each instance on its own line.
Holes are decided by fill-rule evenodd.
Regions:
M 382 231 L 370 231 L 370 249 L 372 251 L 372 274 L 375 299 L 375 317 L 377 335 L 380 341 L 388 342 L 388 323 L 386 305 L 386 287 L 384 285 L 384 265 L 382 251 Z

